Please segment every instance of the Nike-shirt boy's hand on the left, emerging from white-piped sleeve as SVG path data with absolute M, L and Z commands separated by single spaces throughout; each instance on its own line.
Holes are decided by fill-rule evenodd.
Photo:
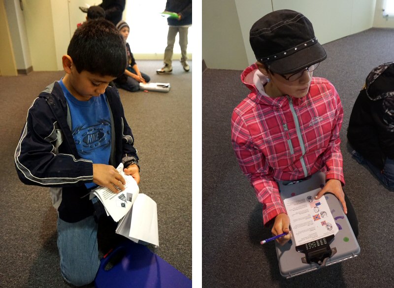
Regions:
M 114 193 L 118 193 L 119 191 L 115 186 L 121 190 L 125 190 L 126 181 L 114 166 L 93 164 L 93 183 L 106 187 Z

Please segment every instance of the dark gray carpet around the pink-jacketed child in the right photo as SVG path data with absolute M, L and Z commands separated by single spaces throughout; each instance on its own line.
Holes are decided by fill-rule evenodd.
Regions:
M 369 29 L 323 46 L 328 58 L 314 75 L 333 83 L 344 107 L 344 191 L 358 216 L 361 254 L 289 280 L 281 276 L 274 243 L 260 245 L 270 229 L 262 225 L 262 205 L 231 148 L 231 113 L 248 94 L 242 71 L 207 69 L 202 74 L 203 287 L 393 287 L 394 192 L 351 157 L 346 130 L 367 74 L 394 61 L 394 30 Z

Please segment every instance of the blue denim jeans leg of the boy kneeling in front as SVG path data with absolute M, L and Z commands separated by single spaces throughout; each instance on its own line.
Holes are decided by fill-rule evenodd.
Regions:
M 98 224 L 93 216 L 68 223 L 58 216 L 60 269 L 66 282 L 83 286 L 95 280 L 99 270 Z

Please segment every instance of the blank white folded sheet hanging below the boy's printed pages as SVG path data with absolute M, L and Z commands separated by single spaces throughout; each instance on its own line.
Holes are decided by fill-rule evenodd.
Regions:
M 129 213 L 119 222 L 116 233 L 138 243 L 138 240 L 159 247 L 157 204 L 145 194 L 138 194 Z

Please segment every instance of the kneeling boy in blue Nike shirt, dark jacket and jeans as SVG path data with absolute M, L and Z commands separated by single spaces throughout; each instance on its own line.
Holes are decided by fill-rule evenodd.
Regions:
M 15 165 L 23 183 L 51 188 L 62 275 L 82 286 L 99 269 L 98 224 L 87 194 L 97 185 L 123 190 L 115 169 L 121 162 L 138 183 L 139 167 L 119 94 L 108 86 L 127 64 L 122 35 L 106 20 L 85 22 L 62 61 L 64 78 L 29 108 Z

